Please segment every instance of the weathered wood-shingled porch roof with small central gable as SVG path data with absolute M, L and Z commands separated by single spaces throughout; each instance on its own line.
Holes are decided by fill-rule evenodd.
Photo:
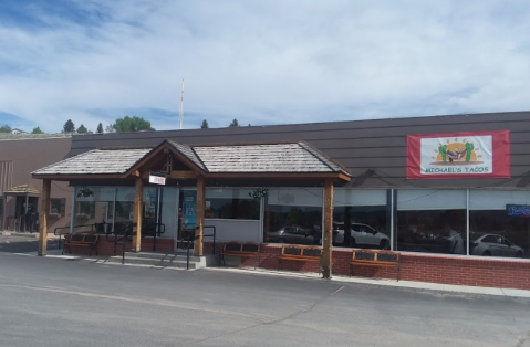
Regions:
M 228 175 L 336 175 L 350 180 L 350 172 L 305 143 L 188 146 L 164 140 L 155 148 L 94 149 L 39 169 L 35 178 L 128 177 L 148 158 L 168 149 L 189 168 L 205 177 Z

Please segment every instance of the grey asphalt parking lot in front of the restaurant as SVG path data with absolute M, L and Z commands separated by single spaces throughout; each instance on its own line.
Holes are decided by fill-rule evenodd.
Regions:
M 0 252 L 0 346 L 530 346 L 530 301 Z

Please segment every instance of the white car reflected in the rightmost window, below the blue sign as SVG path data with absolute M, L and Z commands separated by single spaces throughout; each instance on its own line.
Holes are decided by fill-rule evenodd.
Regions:
M 524 250 L 497 234 L 471 233 L 469 253 L 482 256 L 523 257 Z

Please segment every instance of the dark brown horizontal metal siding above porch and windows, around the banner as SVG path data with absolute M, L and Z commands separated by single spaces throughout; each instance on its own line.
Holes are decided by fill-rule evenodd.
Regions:
M 407 180 L 406 136 L 510 130 L 510 179 Z M 71 155 L 105 147 L 306 141 L 347 168 L 358 188 L 530 188 L 530 112 L 74 136 Z

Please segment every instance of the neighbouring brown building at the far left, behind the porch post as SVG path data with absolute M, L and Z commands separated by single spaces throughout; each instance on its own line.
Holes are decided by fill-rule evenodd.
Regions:
M 56 135 L 59 136 L 59 135 Z M 38 231 L 42 181 L 31 172 L 67 157 L 72 138 L 50 135 L 0 136 L 0 230 Z M 55 182 L 51 192 L 50 230 L 70 224 L 73 189 Z

